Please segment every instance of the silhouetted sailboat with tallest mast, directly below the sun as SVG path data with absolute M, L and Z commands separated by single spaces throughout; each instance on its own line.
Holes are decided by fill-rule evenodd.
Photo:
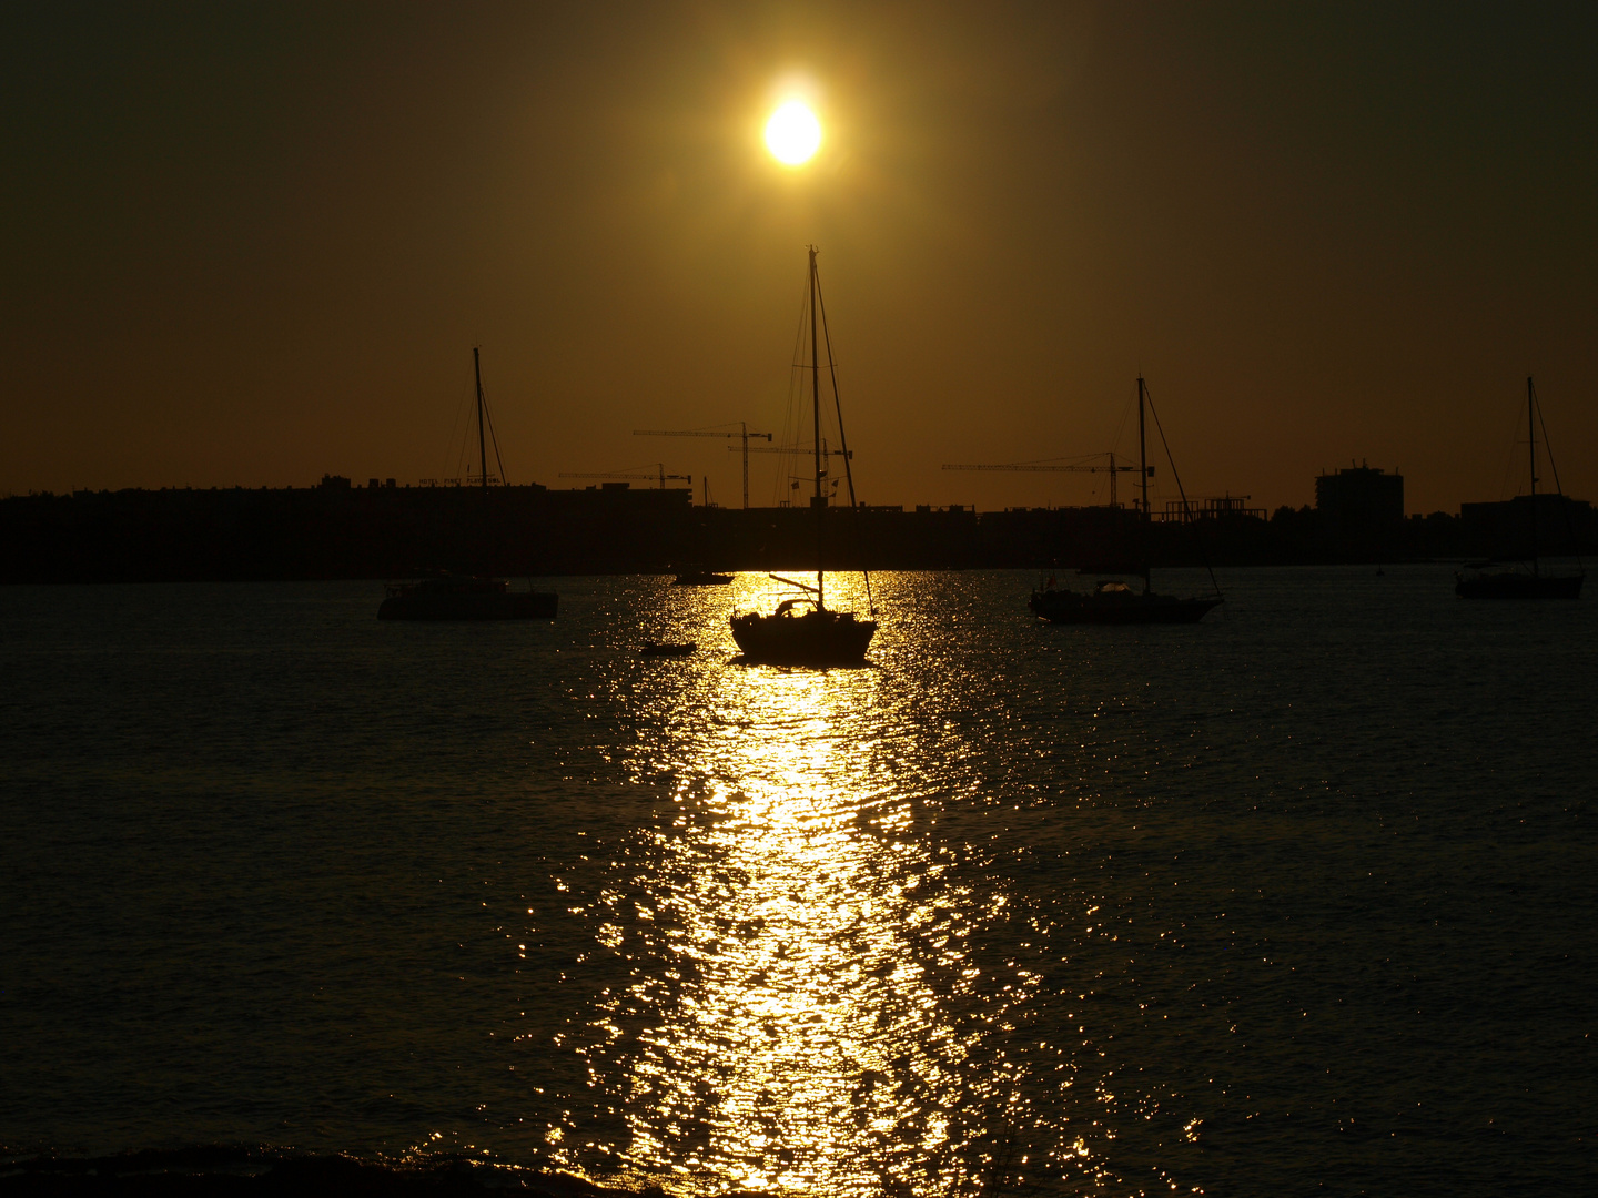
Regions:
M 746 612 L 732 617 L 732 639 L 743 650 L 743 660 L 769 666 L 858 666 L 865 663 L 866 649 L 877 631 L 876 620 L 860 620 L 853 612 L 834 612 L 826 605 L 826 492 L 821 449 L 821 355 L 817 337 L 817 311 L 820 305 L 820 278 L 815 268 L 815 246 L 810 246 L 810 403 L 815 430 L 815 586 L 793 578 L 770 575 L 775 581 L 804 591 L 804 597 L 783 599 L 770 615 Z M 821 319 L 826 319 L 821 310 Z M 828 342 L 831 356 L 831 342 Z M 837 398 L 837 375 L 833 375 L 833 396 Z M 839 411 L 839 439 L 842 441 L 844 470 L 849 476 L 849 503 L 855 506 L 855 478 L 849 466 L 849 442 L 844 441 L 842 411 Z M 869 604 L 871 580 L 866 578 L 866 602 Z M 876 612 L 871 612 L 876 615 Z

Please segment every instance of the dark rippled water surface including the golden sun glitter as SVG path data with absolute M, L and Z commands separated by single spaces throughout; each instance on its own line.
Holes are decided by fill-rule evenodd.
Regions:
M 1598 604 L 1251 570 L 1071 629 L 887 575 L 873 666 L 810 672 L 730 663 L 770 583 L 668 581 L 0 591 L 0 1142 L 1598 1188 Z

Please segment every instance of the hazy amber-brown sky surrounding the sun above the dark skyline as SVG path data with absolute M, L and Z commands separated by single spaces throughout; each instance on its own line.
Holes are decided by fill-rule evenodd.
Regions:
M 938 466 L 1135 452 L 1139 369 L 1191 494 L 1501 498 L 1534 372 L 1598 500 L 1595 51 L 1590 2 L 8 5 L 0 492 L 452 474 L 478 343 L 513 482 L 735 503 L 630 431 L 781 422 L 813 241 L 869 502 L 1101 498 Z

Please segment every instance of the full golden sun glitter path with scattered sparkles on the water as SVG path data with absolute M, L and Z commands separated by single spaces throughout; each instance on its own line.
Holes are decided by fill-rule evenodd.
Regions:
M 1115 1077 L 1079 1006 L 1123 968 L 1125 928 L 1082 931 L 1087 808 L 1061 819 L 1037 751 L 1058 730 L 994 669 L 964 593 L 874 583 L 855 669 L 741 664 L 729 617 L 794 594 L 764 575 L 618 604 L 698 653 L 612 650 L 585 684 L 606 789 L 562 858 L 569 901 L 556 879 L 572 938 L 545 941 L 582 990 L 553 1041 L 556 1163 L 681 1195 L 952 1198 L 1101 1185 L 1136 1140 L 1163 1176 L 1159 1144 L 1104 1118 L 1136 1105 L 1159 1137 L 1167 1097 Z M 865 615 L 861 578 L 829 575 L 828 605 Z

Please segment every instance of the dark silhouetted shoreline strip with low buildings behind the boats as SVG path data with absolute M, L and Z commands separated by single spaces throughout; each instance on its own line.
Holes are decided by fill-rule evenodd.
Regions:
M 1358 565 L 1510 557 L 1517 505 L 1475 519 L 1336 524 L 1312 508 L 1219 510 L 1191 519 L 1125 506 L 825 510 L 828 569 L 1090 570 L 1183 565 Z M 1502 508 L 1504 511 L 1497 511 Z M 1598 545 L 1572 502 L 1564 543 Z M 813 508 L 690 506 L 686 490 L 300 487 L 120 490 L 0 500 L 0 583 L 308 581 L 812 569 Z

